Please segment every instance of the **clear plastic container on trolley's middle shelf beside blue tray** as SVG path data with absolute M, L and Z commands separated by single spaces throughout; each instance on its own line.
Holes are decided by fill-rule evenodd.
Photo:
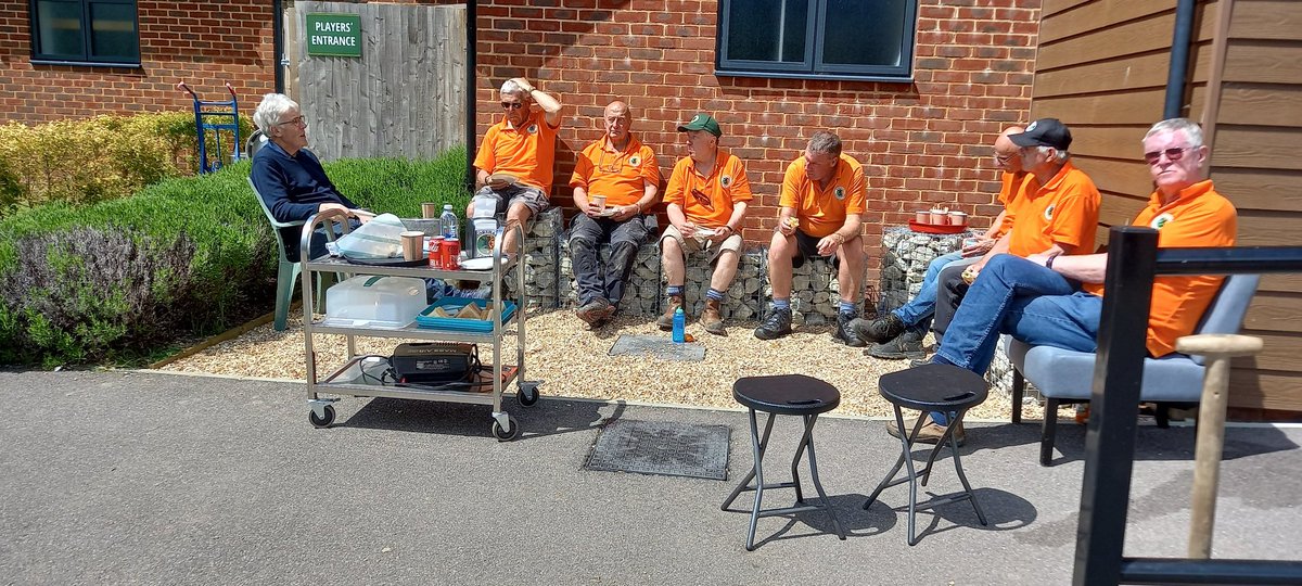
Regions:
M 421 279 L 361 275 L 326 290 L 326 324 L 401 328 L 428 305 Z

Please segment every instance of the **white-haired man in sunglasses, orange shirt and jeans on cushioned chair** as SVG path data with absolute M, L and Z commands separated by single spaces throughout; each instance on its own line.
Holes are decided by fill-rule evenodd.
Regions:
M 1187 119 L 1157 122 L 1143 138 L 1143 154 L 1156 190 L 1133 225 L 1156 229 L 1159 247 L 1233 246 L 1237 215 L 1207 178 L 1211 151 L 1203 145 L 1202 129 Z M 1060 253 L 991 259 L 954 314 L 932 362 L 984 374 L 1000 333 L 1031 345 L 1098 350 L 1107 260 L 1107 254 Z M 1194 332 L 1220 284 L 1219 276 L 1155 279 L 1148 356 L 1174 352 L 1176 339 Z M 935 426 L 936 414 L 931 417 L 928 426 Z

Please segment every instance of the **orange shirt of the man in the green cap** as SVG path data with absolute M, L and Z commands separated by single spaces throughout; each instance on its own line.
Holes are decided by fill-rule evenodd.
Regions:
M 750 181 L 741 159 L 720 148 L 708 177 L 697 172 L 690 156 L 678 159 L 664 189 L 664 203 L 677 203 L 682 214 L 702 228 L 719 228 L 732 217 L 733 203 L 749 202 Z

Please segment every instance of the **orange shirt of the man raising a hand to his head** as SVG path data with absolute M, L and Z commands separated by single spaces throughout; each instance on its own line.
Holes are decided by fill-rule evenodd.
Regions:
M 522 184 L 552 194 L 552 164 L 556 161 L 556 130 L 547 124 L 547 112 L 539 109 L 525 120 L 523 128 L 510 128 L 506 117 L 484 133 L 475 155 L 475 168 L 490 173 L 510 173 Z

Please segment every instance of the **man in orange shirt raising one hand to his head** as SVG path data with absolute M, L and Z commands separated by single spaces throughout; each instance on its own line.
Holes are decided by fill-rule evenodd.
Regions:
M 497 214 L 508 224 L 523 224 L 547 208 L 556 160 L 556 130 L 561 126 L 561 103 L 527 79 L 517 77 L 501 85 L 504 116 L 484 133 L 475 156 L 475 198 L 496 201 Z M 533 104 L 542 109 L 534 111 Z M 466 206 L 469 217 L 474 202 Z M 503 250 L 514 254 L 516 233 L 506 230 Z

